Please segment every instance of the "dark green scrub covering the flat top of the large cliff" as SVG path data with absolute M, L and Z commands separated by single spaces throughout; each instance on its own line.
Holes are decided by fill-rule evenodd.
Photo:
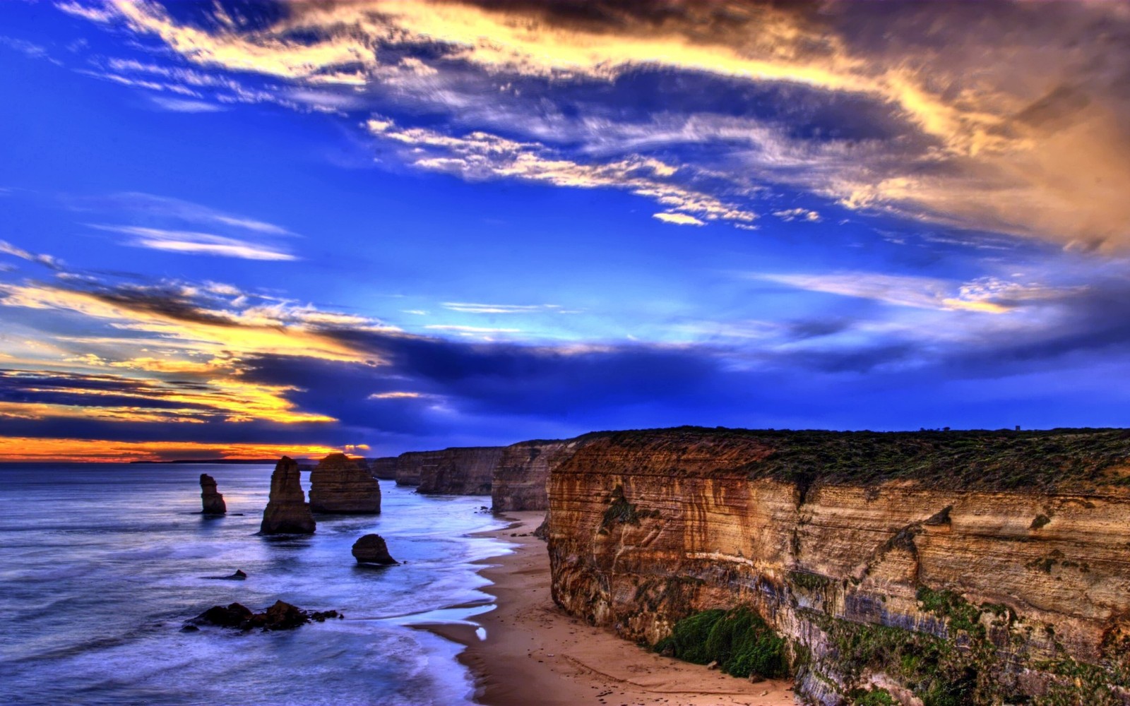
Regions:
M 1130 485 L 1130 429 L 1032 432 L 822 432 L 678 427 L 619 432 L 625 448 L 675 443 L 725 448 L 750 478 L 872 485 L 916 480 L 964 490 L 1048 490 L 1058 486 Z M 748 453 L 742 453 L 748 448 Z M 699 448 L 701 451 L 701 448 Z M 742 461 L 748 456 L 748 461 Z

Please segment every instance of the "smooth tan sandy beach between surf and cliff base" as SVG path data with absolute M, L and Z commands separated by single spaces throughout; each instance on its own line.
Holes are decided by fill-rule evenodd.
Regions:
M 549 598 L 546 543 L 532 535 L 545 513 L 507 513 L 514 523 L 489 534 L 518 544 L 480 572 L 497 608 L 476 618 L 480 640 L 458 625 L 428 629 L 467 645 L 460 661 L 488 706 L 649 705 L 791 706 L 791 682 L 750 683 L 705 666 L 647 652 L 563 613 Z

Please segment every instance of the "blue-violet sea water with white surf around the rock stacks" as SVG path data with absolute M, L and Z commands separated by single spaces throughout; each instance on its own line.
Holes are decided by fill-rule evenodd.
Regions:
M 227 515 L 200 515 L 201 472 Z M 473 561 L 508 551 L 484 497 L 381 482 L 382 513 L 259 537 L 271 467 L 0 464 L 0 683 L 9 704 L 467 704 L 461 647 L 414 624 L 489 609 Z M 303 474 L 308 490 L 308 476 Z M 360 567 L 363 534 L 405 564 Z M 242 569 L 246 581 L 215 578 Z M 232 602 L 344 620 L 182 631 Z M 467 604 L 471 604 L 470 608 Z M 477 607 L 476 607 L 477 604 Z M 453 608 L 454 607 L 454 608 Z

